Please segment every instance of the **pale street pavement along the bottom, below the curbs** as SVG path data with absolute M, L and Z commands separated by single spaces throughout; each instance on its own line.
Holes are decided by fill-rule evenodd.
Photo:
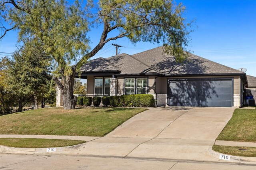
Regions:
M 256 166 L 92 156 L 0 154 L 1 170 L 256 170 Z

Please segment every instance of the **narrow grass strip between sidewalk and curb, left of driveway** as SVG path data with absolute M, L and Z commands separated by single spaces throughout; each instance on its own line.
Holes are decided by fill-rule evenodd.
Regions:
M 1 138 L 0 145 L 17 148 L 48 148 L 81 144 L 83 140 L 36 139 L 36 138 Z

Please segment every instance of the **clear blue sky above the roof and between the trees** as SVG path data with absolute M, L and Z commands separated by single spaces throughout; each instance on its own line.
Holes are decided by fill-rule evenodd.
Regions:
M 247 68 L 248 75 L 256 76 L 256 1 L 176 1 L 187 10 L 187 20 L 196 20 L 194 32 L 190 34 L 189 49 L 194 54 L 227 65 L 234 69 Z M 90 32 L 94 47 L 99 41 L 100 29 Z M 0 42 L 1 52 L 16 49 L 17 32 L 10 31 Z M 120 53 L 134 54 L 162 44 L 142 43 L 136 47 L 127 39 L 110 42 L 92 59 L 115 55 L 117 43 Z M 1 53 L 3 54 L 3 53 Z M 0 55 L 3 57 L 3 55 Z

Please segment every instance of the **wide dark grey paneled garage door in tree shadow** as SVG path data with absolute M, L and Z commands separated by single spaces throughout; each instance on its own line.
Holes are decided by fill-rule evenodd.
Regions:
M 232 79 L 168 80 L 169 106 L 232 107 Z

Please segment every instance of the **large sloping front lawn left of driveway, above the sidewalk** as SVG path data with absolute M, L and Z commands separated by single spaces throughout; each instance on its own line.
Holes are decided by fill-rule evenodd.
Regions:
M 0 116 L 0 134 L 104 136 L 142 108 L 44 108 Z

